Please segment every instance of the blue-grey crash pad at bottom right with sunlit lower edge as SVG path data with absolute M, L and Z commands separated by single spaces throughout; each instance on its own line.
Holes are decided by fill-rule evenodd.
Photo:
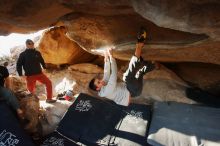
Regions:
M 148 143 L 154 146 L 220 146 L 220 109 L 157 102 Z

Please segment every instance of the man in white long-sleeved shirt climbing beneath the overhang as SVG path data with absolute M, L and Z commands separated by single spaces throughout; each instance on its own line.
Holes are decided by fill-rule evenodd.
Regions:
M 131 97 L 139 96 L 143 88 L 144 74 L 155 68 L 154 64 L 144 61 L 141 57 L 146 35 L 146 30 L 141 28 L 135 55 L 132 56 L 129 67 L 123 75 L 124 82 L 117 83 L 117 64 L 112 56 L 112 49 L 109 49 L 105 54 L 104 77 L 92 79 L 90 89 L 98 91 L 100 97 L 106 97 L 123 106 L 129 105 Z

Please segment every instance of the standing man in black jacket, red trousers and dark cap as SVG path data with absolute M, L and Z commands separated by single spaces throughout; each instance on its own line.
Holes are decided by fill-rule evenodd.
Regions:
M 48 103 L 56 102 L 52 99 L 52 83 L 50 79 L 42 72 L 41 66 L 46 69 L 44 59 L 41 53 L 34 48 L 34 42 L 30 39 L 26 40 L 27 49 L 23 51 L 17 61 L 17 72 L 19 76 L 23 76 L 22 67 L 25 71 L 27 88 L 34 94 L 36 81 L 46 85 Z

